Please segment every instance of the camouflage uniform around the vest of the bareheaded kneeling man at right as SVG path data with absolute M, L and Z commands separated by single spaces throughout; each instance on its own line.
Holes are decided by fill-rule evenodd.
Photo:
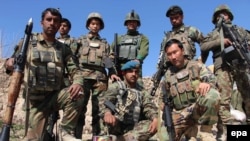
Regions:
M 199 83 L 204 80 L 203 78 L 206 78 L 206 83 L 209 83 L 212 87 L 205 96 L 196 94 L 197 99 L 193 104 L 182 109 L 173 109 L 172 117 L 178 139 L 183 136 L 188 139 L 191 137 L 196 138 L 200 134 L 198 125 L 209 126 L 210 128 L 208 128 L 206 132 L 212 134 L 212 125 L 218 121 L 220 94 L 215 89 L 215 76 L 204 64 L 198 61 L 188 61 L 186 62 L 185 67 L 182 69 L 190 70 L 190 68 L 192 68 L 194 65 L 198 67 L 197 70 L 199 70 L 199 76 L 196 77 L 196 79 L 191 79 L 190 81 L 190 85 L 194 87 L 193 90 L 196 90 L 196 87 L 199 85 Z M 174 72 L 180 71 L 178 69 L 169 69 L 164 76 L 164 81 L 167 84 L 166 88 L 169 94 L 171 94 L 171 87 L 169 87 L 169 84 L 171 83 L 170 76 L 175 75 L 175 73 L 173 71 L 171 72 L 170 70 L 175 70 Z M 189 71 L 189 73 L 192 73 L 192 71 Z M 175 104 L 176 103 L 173 102 L 173 105 Z

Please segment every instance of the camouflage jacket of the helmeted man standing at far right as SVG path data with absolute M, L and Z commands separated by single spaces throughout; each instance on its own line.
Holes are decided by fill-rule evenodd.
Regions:
M 248 44 L 250 45 L 250 34 L 243 29 L 242 27 L 238 27 L 236 25 L 232 25 L 231 22 L 227 23 L 228 26 L 235 26 L 238 33 L 245 37 L 248 41 Z M 224 43 L 224 42 L 223 42 Z M 226 66 L 226 64 L 223 63 L 221 58 L 221 37 L 219 28 L 215 27 L 212 32 L 208 33 L 208 35 L 205 37 L 203 42 L 201 43 L 201 50 L 203 52 L 213 52 L 213 62 L 214 62 L 214 71 L 217 69 Z M 207 60 L 207 57 L 204 58 L 204 60 Z

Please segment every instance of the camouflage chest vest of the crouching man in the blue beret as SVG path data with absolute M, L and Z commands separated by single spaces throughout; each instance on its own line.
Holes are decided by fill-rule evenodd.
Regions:
M 142 94 L 136 89 L 126 88 L 123 81 L 117 81 L 120 90 L 116 107 L 123 115 L 122 121 L 126 125 L 138 123 L 141 114 Z

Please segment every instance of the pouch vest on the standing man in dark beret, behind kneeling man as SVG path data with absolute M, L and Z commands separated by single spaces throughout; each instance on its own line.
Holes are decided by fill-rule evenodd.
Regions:
M 170 39 L 177 39 L 183 44 L 184 53 L 188 57 L 188 59 L 191 60 L 196 54 L 196 48 L 192 38 L 189 35 L 189 28 L 190 27 L 185 27 L 184 32 L 179 33 L 174 33 L 173 31 L 167 32 L 164 39 L 164 47 Z

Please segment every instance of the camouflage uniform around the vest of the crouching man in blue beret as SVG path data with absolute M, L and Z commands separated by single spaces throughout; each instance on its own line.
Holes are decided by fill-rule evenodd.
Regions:
M 117 96 L 120 95 L 119 90 L 120 86 L 117 82 L 115 82 L 108 87 L 108 90 L 106 92 L 100 95 L 99 115 L 101 117 L 103 117 L 106 111 L 111 111 L 104 105 L 104 102 L 106 100 L 109 100 L 114 105 L 116 105 L 116 103 L 118 102 Z M 152 101 L 153 97 L 149 93 L 147 93 L 140 85 L 137 85 L 137 87 L 133 90 L 141 92 L 140 95 L 142 100 L 140 105 L 141 114 L 139 117 L 139 121 L 135 124 L 126 124 L 128 121 L 119 121 L 115 127 L 109 127 L 108 130 L 110 134 L 122 136 L 122 138 L 124 138 L 125 140 L 148 140 L 153 136 L 152 134 L 149 134 L 148 126 L 151 120 L 157 118 L 158 116 L 157 107 Z M 124 97 L 122 97 L 123 100 L 125 100 Z M 126 103 L 126 101 L 124 103 Z M 129 112 L 133 111 L 129 110 Z M 105 132 L 104 127 L 105 125 L 103 125 L 102 123 L 102 133 Z

